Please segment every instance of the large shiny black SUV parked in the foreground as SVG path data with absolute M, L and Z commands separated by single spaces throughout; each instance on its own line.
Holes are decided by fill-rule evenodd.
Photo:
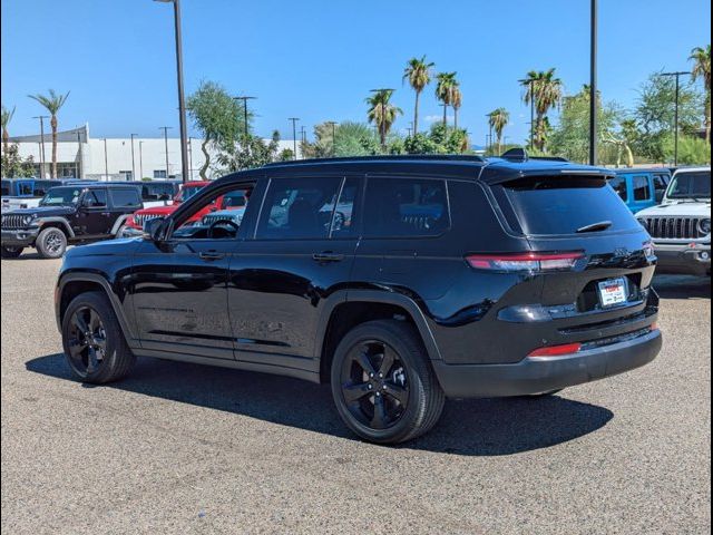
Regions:
M 144 237 L 67 254 L 67 361 L 87 382 L 136 357 L 330 382 L 377 442 L 426 432 L 446 397 L 548 395 L 637 368 L 662 344 L 656 259 L 609 177 L 455 156 L 226 176 Z M 240 223 L 184 224 L 235 191 Z

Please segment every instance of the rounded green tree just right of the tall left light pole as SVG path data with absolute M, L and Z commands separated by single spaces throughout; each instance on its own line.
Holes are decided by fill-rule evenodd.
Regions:
M 235 145 L 245 128 L 244 114 L 227 90 L 215 81 L 202 81 L 198 89 L 186 100 L 186 109 L 194 126 L 203 134 L 201 149 L 205 162 L 199 175 L 202 179 L 207 181 L 211 167 L 208 146 L 214 144 L 225 148 Z M 242 143 L 251 145 L 254 142 L 248 138 Z

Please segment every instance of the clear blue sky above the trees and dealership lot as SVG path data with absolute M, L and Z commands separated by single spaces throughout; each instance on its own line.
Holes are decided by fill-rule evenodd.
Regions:
M 183 0 L 186 90 L 202 79 L 258 97 L 256 129 L 292 137 L 287 117 L 312 132 L 322 120 L 364 120 L 374 87 L 397 88 L 406 132 L 413 94 L 404 64 L 426 54 L 458 71 L 460 124 L 485 143 L 486 118 L 505 106 L 509 140 L 527 136 L 517 79 L 556 67 L 566 89 L 588 80 L 588 0 Z M 599 84 L 633 106 L 638 85 L 662 68 L 686 69 L 710 42 L 707 0 L 600 0 Z M 60 127 L 88 121 L 94 137 L 177 135 L 173 9 L 152 0 L 3 0 L 1 97 L 17 106 L 11 134 L 37 130 L 30 93 L 71 90 Z M 433 87 L 421 116 L 440 108 Z M 195 135 L 195 132 L 192 133 Z

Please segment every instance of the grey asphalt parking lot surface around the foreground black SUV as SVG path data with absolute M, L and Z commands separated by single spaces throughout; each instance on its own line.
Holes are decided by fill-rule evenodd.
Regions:
M 58 261 L 2 261 L 2 533 L 710 533 L 711 284 L 661 278 L 651 366 L 539 400 L 450 401 L 356 440 L 326 387 L 140 360 L 64 363 Z

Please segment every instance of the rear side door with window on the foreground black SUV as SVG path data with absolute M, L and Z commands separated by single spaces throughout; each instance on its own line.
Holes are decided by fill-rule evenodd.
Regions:
M 231 261 L 242 361 L 310 368 L 324 300 L 349 281 L 361 177 L 272 177 L 252 236 Z M 263 189 L 263 188 L 261 188 Z

